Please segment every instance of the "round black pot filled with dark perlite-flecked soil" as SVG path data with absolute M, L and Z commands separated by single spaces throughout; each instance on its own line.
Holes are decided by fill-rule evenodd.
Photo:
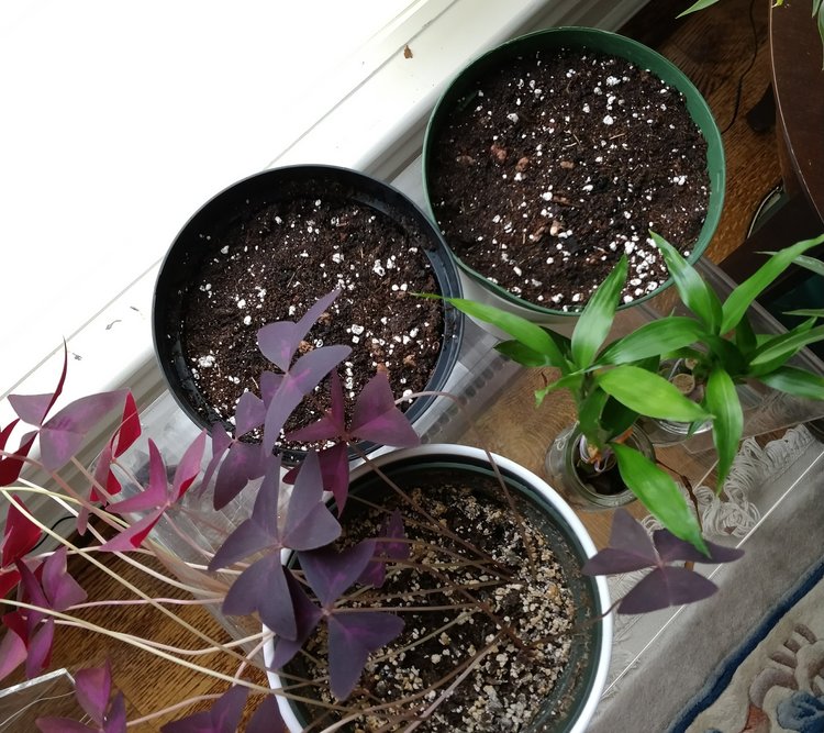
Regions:
M 399 396 L 443 388 L 460 347 L 460 314 L 409 292 L 457 296 L 460 286 L 439 233 L 405 196 L 354 170 L 307 165 L 249 176 L 203 204 L 160 266 L 153 309 L 157 358 L 183 411 L 231 433 L 241 396 L 267 388 L 258 330 L 335 288 L 342 295 L 330 312 L 314 313 L 301 348 L 350 346 L 341 365 L 349 396 L 376 368 Z M 283 370 L 272 362 L 275 374 Z M 403 409 L 414 422 L 433 399 Z M 323 386 L 296 406 L 287 429 L 327 404 Z

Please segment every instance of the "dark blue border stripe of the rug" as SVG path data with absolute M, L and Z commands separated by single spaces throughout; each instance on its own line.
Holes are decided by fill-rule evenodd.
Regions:
M 753 649 L 767 637 L 767 634 L 769 634 L 783 615 L 804 598 L 822 578 L 824 578 L 824 558 L 817 560 L 806 569 L 795 587 L 784 593 L 772 611 L 761 619 L 756 630 L 724 659 L 720 668 L 714 673 L 713 678 L 687 703 L 667 733 L 684 733 L 687 728 L 694 722 L 695 718 L 719 699 L 730 685 L 735 671 L 751 654 Z

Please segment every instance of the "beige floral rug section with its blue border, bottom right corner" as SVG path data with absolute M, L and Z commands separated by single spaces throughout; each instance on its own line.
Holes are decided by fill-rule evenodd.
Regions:
M 671 731 L 824 731 L 824 560 L 727 657 Z

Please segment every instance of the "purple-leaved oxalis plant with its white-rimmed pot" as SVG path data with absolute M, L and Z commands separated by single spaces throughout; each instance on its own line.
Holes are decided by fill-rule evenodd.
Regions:
M 322 300 L 318 312 L 310 309 L 310 316 L 325 312 L 327 306 Z M 615 546 L 595 555 L 591 559 L 594 565 L 582 567 L 594 548 L 586 533 L 579 534 L 580 524 L 568 508 L 543 481 L 503 458 L 456 446 L 430 446 L 379 460 L 366 456 L 364 468 L 352 481 L 346 462 L 324 463 L 310 449 L 290 471 L 288 480 L 293 484 L 288 488 L 279 455 L 264 447 L 268 444 L 266 433 L 280 434 L 297 403 L 296 391 L 311 391 L 324 368 L 330 371 L 335 366 L 321 368 L 311 358 L 312 352 L 301 354 L 310 325 L 301 319 L 260 330 L 263 351 L 282 358 L 287 369 L 274 390 L 264 390 L 263 398 L 245 393 L 248 397 L 238 402 L 234 415 L 235 436 L 227 444 L 213 440 L 209 456 L 208 436 L 202 431 L 172 467 L 149 441 L 143 479 L 124 473 L 121 460 L 140 436 L 140 420 L 127 392 L 92 395 L 55 411 L 66 377 L 64 367 L 53 393 L 10 398 L 19 418 L 0 430 L 0 493 L 8 504 L 0 590 L 10 607 L 2 618 L 0 676 L 20 665 L 25 666 L 27 676 L 38 675 L 48 665 L 56 625 L 69 623 L 112 634 L 122 643 L 185 664 L 192 673 L 224 680 L 225 692 L 208 696 L 209 710 L 187 713 L 187 700 L 175 706 L 174 712 L 182 717 L 164 725 L 167 733 L 235 730 L 249 691 L 266 695 L 247 728 L 255 733 L 281 722 L 276 698 L 289 699 L 299 709 L 319 710 L 323 730 L 330 732 L 345 722 L 366 719 L 365 726 L 376 719 L 404 730 L 423 726 L 441 715 L 467 713 L 460 692 L 463 682 L 476 673 L 498 675 L 498 681 L 482 687 L 482 699 L 470 689 L 469 712 L 479 717 L 481 730 L 500 730 L 489 721 L 500 720 L 501 701 L 511 699 L 504 697 L 504 688 L 512 682 L 508 670 L 523 676 L 521 682 L 528 682 L 528 693 L 516 688 L 512 708 L 503 712 L 506 720 L 517 719 L 513 730 L 583 730 L 604 679 L 610 622 L 602 615 L 608 610 L 603 581 L 592 582 L 580 573 L 620 570 L 626 559 L 621 543 L 627 533 L 634 536 L 637 525 L 622 520 L 613 532 Z M 345 359 L 345 349 L 337 356 Z M 380 436 L 381 442 L 396 445 L 417 443 L 409 421 L 396 408 L 385 374 L 378 373 L 361 390 L 352 420 L 342 410 L 345 396 L 339 380 L 333 378 L 332 384 L 333 403 L 327 413 L 302 429 L 314 438 L 357 443 Z M 96 465 L 81 474 L 79 486 L 67 484 L 60 477 L 63 467 L 77 463 L 75 455 L 85 435 L 110 412 L 121 415 L 119 429 Z M 13 448 L 12 435 L 19 423 L 31 430 Z M 263 441 L 244 443 L 243 436 L 258 426 L 263 426 Z M 37 458 L 30 455 L 35 443 Z M 55 488 L 20 479 L 26 464 L 45 469 Z M 263 468 L 250 470 L 253 465 Z M 129 487 L 125 498 L 118 496 L 123 486 Z M 326 502 L 324 489 L 334 495 L 333 506 Z M 85 549 L 44 527 L 31 514 L 23 499 L 30 491 L 53 497 L 77 515 L 78 529 L 88 536 Z M 222 506 L 231 500 L 226 497 L 241 491 L 254 495 L 250 512 L 224 536 L 216 552 L 197 546 L 194 534 L 187 533 L 189 524 L 215 520 L 211 507 Z M 493 531 L 482 535 L 478 520 L 483 513 L 504 524 L 493 522 Z M 505 520 L 500 519 L 503 515 Z M 189 544 L 197 560 L 181 559 L 158 542 L 162 526 Z M 37 549 L 44 532 L 62 543 L 57 551 Z M 646 543 L 653 542 L 646 534 L 644 537 Z M 673 560 L 695 559 L 694 549 L 669 533 L 657 535 L 654 542 L 641 547 L 643 566 L 667 579 L 673 573 L 679 577 L 686 573 L 691 582 L 680 582 L 683 592 L 676 595 L 641 588 L 627 601 L 627 611 L 681 603 L 711 592 L 709 581 L 691 578 L 693 574 L 686 568 L 670 567 Z M 709 543 L 706 548 L 708 554 L 699 559 L 721 562 L 727 557 L 715 556 Z M 285 551 L 294 563 L 282 556 Z M 146 637 L 90 622 L 85 615 L 89 607 L 114 601 L 87 602 L 86 591 L 69 570 L 69 552 L 94 564 L 101 553 L 121 553 L 138 568 L 146 568 L 152 558 L 162 566 L 182 566 L 180 575 L 194 602 L 219 603 L 223 613 L 256 626 L 243 640 L 246 653 L 236 644 L 189 629 L 198 646 L 205 645 L 202 652 L 234 659 L 236 674 L 227 677 L 198 664 L 188 657 L 191 649 L 157 645 L 151 631 Z M 414 582 L 408 582 L 411 577 Z M 525 596 L 527 586 L 542 577 L 545 585 L 537 593 Z M 176 618 L 174 610 L 165 608 L 167 601 L 134 585 L 129 588 L 137 593 L 136 602 Z M 524 598 L 531 598 L 530 602 L 524 603 Z M 434 626 L 422 635 L 416 624 L 427 610 L 434 613 Z M 474 626 L 487 629 L 482 640 L 472 641 L 468 631 Z M 576 646 L 572 641 L 581 635 L 589 637 L 588 644 L 576 648 L 564 666 L 563 655 L 571 652 Z M 396 677 L 380 670 L 387 664 L 400 666 L 419 647 L 428 655 L 435 678 L 419 680 L 423 673 L 410 670 L 412 677 L 405 679 L 411 689 L 401 690 L 402 700 L 381 700 L 382 684 Z M 249 667 L 258 664 L 256 655 L 261 648 L 267 649 L 267 671 L 275 671 L 272 667 L 280 670 L 271 690 L 248 674 Z M 556 668 L 547 675 L 546 665 L 538 669 L 533 663 L 541 658 L 542 649 L 550 648 Z M 324 658 L 325 673 L 321 667 L 307 667 L 322 665 Z M 76 684 L 91 723 L 83 728 L 64 719 L 42 719 L 42 731 L 125 731 L 123 696 L 113 695 L 108 665 L 78 671 Z M 495 691 L 497 685 L 500 697 L 490 691 Z M 566 702 L 550 706 L 552 710 L 531 707 L 533 701 L 539 707 L 554 695 Z M 399 709 L 401 703 L 403 709 Z

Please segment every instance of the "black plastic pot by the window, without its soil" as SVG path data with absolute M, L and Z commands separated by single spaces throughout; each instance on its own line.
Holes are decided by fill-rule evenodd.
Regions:
M 220 236 L 221 231 L 229 231 L 266 204 L 289 198 L 323 196 L 331 188 L 338 199 L 344 196 L 347 201 L 389 216 L 404 231 L 415 232 L 423 242 L 420 249 L 434 271 L 441 295 L 460 296 L 457 270 L 439 232 L 412 201 L 391 186 L 354 170 L 331 166 L 275 168 L 249 176 L 218 193 L 186 223 L 160 266 L 155 287 L 155 353 L 169 390 L 196 424 L 210 427 L 223 421 L 231 427 L 198 389 L 181 342 L 186 293 L 192 287 L 203 258 L 214 246 L 214 242 L 204 241 L 202 232 L 218 232 Z M 442 346 L 427 389 L 442 389 L 446 384 L 457 360 L 461 334 L 461 314 L 446 307 Z M 409 420 L 414 423 L 433 400 L 431 397 L 415 400 L 407 410 Z

